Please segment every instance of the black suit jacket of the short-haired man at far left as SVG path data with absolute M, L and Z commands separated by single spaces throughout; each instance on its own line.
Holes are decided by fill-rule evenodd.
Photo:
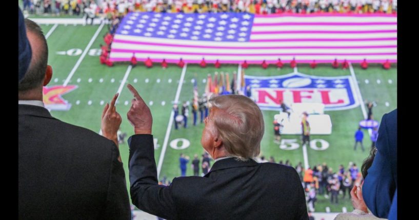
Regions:
M 119 151 L 97 133 L 19 105 L 19 219 L 131 219 Z

